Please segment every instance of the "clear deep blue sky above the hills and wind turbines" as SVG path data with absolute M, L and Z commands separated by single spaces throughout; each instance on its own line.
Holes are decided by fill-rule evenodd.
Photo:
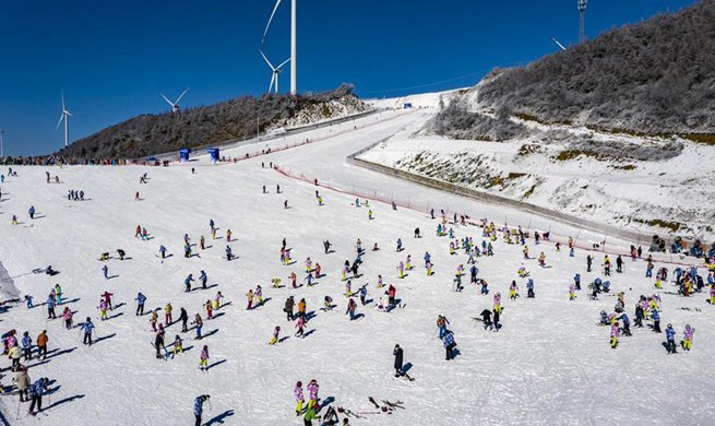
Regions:
M 591 0 L 586 33 L 675 11 L 693 0 Z M 65 91 L 71 140 L 191 87 L 182 106 L 267 90 L 259 56 L 273 0 L 0 2 L 0 129 L 5 155 L 62 146 L 55 130 Z M 290 0 L 264 50 L 289 56 Z M 298 90 L 354 83 L 364 97 L 475 84 L 493 67 L 527 63 L 577 37 L 576 0 L 298 0 Z M 286 66 L 286 71 L 288 70 Z M 467 75 L 465 78 L 465 75 Z M 457 79 L 461 78 L 461 79 Z M 289 86 L 288 72 L 281 88 Z

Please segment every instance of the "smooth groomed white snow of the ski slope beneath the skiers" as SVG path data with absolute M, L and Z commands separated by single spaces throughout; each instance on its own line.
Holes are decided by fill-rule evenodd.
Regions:
M 47 330 L 49 350 L 55 351 L 46 362 L 28 363 L 33 380 L 45 376 L 53 380 L 51 403 L 47 397 L 44 401 L 50 406 L 48 416 L 28 417 L 27 404 L 23 403 L 16 419 L 16 397 L 0 399 L 3 416 L 12 425 L 187 425 L 193 424 L 193 399 L 208 393 L 212 405 L 211 411 L 205 405 L 207 424 L 298 425 L 302 419 L 294 413 L 293 386 L 297 380 L 307 383 L 315 378 L 321 399 L 330 398 L 332 405 L 353 412 L 376 413 L 368 397 L 404 402 L 405 410 L 365 414 L 366 418 L 350 418 L 354 425 L 708 424 L 715 398 L 715 375 L 710 368 L 715 336 L 714 308 L 704 301 L 704 294 L 682 298 L 671 294 L 671 283 L 659 292 L 664 298 L 663 326 L 672 323 L 679 339 L 686 323 L 696 329 L 690 353 L 666 355 L 664 336 L 647 329 L 634 329 L 632 338 L 622 338 L 621 345 L 611 350 L 609 330 L 596 323 L 600 310 L 612 310 L 616 297 L 591 301 L 583 291 L 575 301 L 568 300 L 568 286 L 575 273 L 582 274 L 584 284 L 603 277 L 600 271 L 585 273 L 585 251 L 576 250 L 571 259 L 565 248 L 557 253 L 549 244 L 534 246 L 528 240 L 533 257 L 541 250 L 547 256 L 549 268 L 541 269 L 535 260 L 523 262 L 521 246 L 499 240 L 494 242 L 496 256 L 478 261 L 479 276 L 489 282 L 491 293 L 480 296 L 468 284 L 464 292 L 454 293 L 454 271 L 467 259 L 462 253 L 449 255 L 449 239 L 434 235 L 437 221 L 426 213 L 393 211 L 388 204 L 371 202 L 374 220 L 369 221 L 368 209 L 356 208 L 354 197 L 324 188 L 319 189 L 325 205 L 319 206 L 314 186 L 267 168 L 269 162 L 275 162 L 348 192 L 351 186 L 374 188 L 401 199 L 430 202 L 438 210 L 449 205 L 451 211 L 498 223 L 507 215 L 514 224 L 549 225 L 516 211 L 477 204 L 345 164 L 345 155 L 351 152 L 419 128 L 427 114 L 386 111 L 296 140 L 276 140 L 270 142 L 273 149 L 305 138 L 314 142 L 230 165 L 213 166 L 202 157 L 170 167 L 49 169 L 60 177 L 59 185 L 45 184 L 46 168 L 17 168 L 19 176 L 2 185 L 0 261 L 21 294 L 33 295 L 36 304 L 60 283 L 65 299 L 71 300 L 68 306 L 76 310 L 75 323 L 92 317 L 99 341 L 92 347 L 82 345 L 80 331 L 64 330 L 60 319 L 47 321 L 44 307 L 27 310 L 20 305 L 2 313 L 3 332 L 14 328 L 36 338 Z M 225 154 L 242 156 L 246 151 L 263 147 L 241 147 Z M 262 162 L 266 168 L 261 168 Z M 191 174 L 191 166 L 196 174 Z M 150 180 L 140 185 L 144 173 Z M 266 194 L 262 193 L 263 185 Z M 68 201 L 69 189 L 84 190 L 90 200 Z M 142 201 L 134 201 L 135 191 Z M 290 209 L 283 208 L 285 200 Z M 26 214 L 31 205 L 38 212 L 35 221 Z M 20 225 L 11 225 L 12 214 L 19 215 Z M 221 239 L 210 237 L 211 218 L 219 227 Z M 136 225 L 146 227 L 152 239 L 134 238 Z M 552 225 L 552 230 L 558 228 L 562 235 L 579 233 Z M 424 238 L 413 238 L 416 227 Z M 458 238 L 482 239 L 477 227 L 453 227 Z M 238 256 L 231 262 L 224 259 L 229 228 L 236 238 L 230 246 Z M 198 250 L 196 257 L 183 258 L 184 233 L 194 244 L 205 236 L 211 247 Z M 279 262 L 284 237 L 296 260 L 288 267 Z M 398 237 L 405 246 L 401 253 L 395 252 Z M 382 274 L 385 284 L 396 286 L 403 307 L 385 313 L 371 303 L 358 307 L 364 318 L 349 321 L 344 315 L 347 299 L 339 271 L 346 259 L 355 258 L 357 238 L 368 250 L 360 269 L 362 276 L 354 281 L 353 288 L 367 283 L 368 298 L 377 300 L 381 293 L 376 288 L 377 276 Z M 323 239 L 333 242 L 334 253 L 323 253 Z M 380 251 L 370 250 L 374 242 Z M 159 245 L 172 253 L 164 262 L 158 259 Z M 131 259 L 109 260 L 109 275 L 117 276 L 107 281 L 98 258 L 118 248 Z M 421 261 L 425 251 L 432 255 L 434 263 L 436 273 L 429 277 Z M 112 255 L 116 258 L 116 252 Z M 398 280 L 396 265 L 407 255 L 416 268 Z M 299 282 L 305 277 L 307 257 L 321 264 L 325 276 L 311 287 L 293 289 L 287 277 L 290 272 L 298 274 Z M 595 257 L 599 264 L 603 255 Z M 516 275 L 522 263 L 532 272 L 537 297 L 510 301 L 508 286 L 512 280 L 517 280 L 522 295 L 526 294 L 525 281 Z M 32 272 L 48 264 L 60 273 L 48 276 Z M 212 287 L 183 293 L 183 279 L 189 273 L 198 277 L 201 270 L 208 274 Z M 645 279 L 644 273 L 643 261 L 627 260 L 624 273 L 610 280 L 615 292 L 625 293 L 627 312 L 632 319 L 637 296 L 655 292 L 653 280 Z M 273 277 L 288 286 L 272 288 Z M 464 279 L 468 281 L 468 276 Z M 263 287 L 266 303 L 247 311 L 245 293 L 257 284 Z M 114 318 L 102 322 L 96 307 L 105 291 L 115 294 L 115 305 L 124 305 L 110 312 Z M 205 320 L 204 334 L 208 336 L 194 341 L 192 332 L 182 334 L 188 351 L 175 359 L 157 360 L 150 317 L 134 315 L 133 299 L 139 291 L 148 298 L 147 311 L 170 301 L 175 320 L 180 307 L 186 307 L 190 317 L 201 312 L 205 320 L 202 305 L 217 291 L 230 305 L 215 312 L 218 318 Z M 486 332 L 472 319 L 491 308 L 494 292 L 501 292 L 504 299 L 499 333 Z M 283 312 L 289 295 L 296 301 L 305 298 L 307 310 L 315 313 L 306 329 L 314 331 L 305 339 L 293 335 L 294 326 Z M 325 295 L 337 305 L 333 311 L 320 310 Z M 58 315 L 61 310 L 58 307 Z M 434 321 L 440 313 L 450 320 L 461 352 L 453 362 L 444 360 L 437 335 Z M 282 327 L 282 336 L 289 338 L 269 346 L 275 326 Z M 167 343 L 179 331 L 180 324 L 169 327 Z M 404 348 L 405 363 L 412 364 L 413 382 L 392 377 L 395 343 Z M 198 369 L 203 344 L 208 345 L 213 366 L 207 374 Z M 2 383 L 8 386 L 12 374 L 5 370 L 4 375 Z

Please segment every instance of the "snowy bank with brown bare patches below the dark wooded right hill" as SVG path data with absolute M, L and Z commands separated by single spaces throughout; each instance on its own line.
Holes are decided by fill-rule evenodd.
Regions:
M 494 121 L 479 108 L 478 91 L 454 102 Z M 452 140 L 434 135 L 431 119 L 360 158 L 644 235 L 715 239 L 715 193 L 707 184 L 715 176 L 710 161 L 715 146 L 517 117 L 508 121 L 524 134 L 500 142 Z

